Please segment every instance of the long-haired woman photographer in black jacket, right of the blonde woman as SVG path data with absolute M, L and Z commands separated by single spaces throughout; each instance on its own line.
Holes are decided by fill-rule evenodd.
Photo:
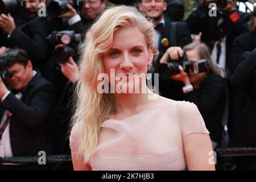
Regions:
M 170 47 L 160 60 L 160 63 L 167 63 L 169 59 L 178 61 L 179 57 L 186 53 L 188 61 L 207 60 L 207 71 L 195 74 L 189 69 L 184 72 L 179 65 L 180 74 L 171 76 L 171 79 L 181 81 L 184 87 L 184 100 L 193 102 L 204 118 L 205 125 L 210 132 L 210 138 L 221 144 L 221 119 L 225 106 L 226 86 L 224 79 L 219 75 L 218 69 L 214 67 L 210 59 L 208 47 L 203 43 L 191 43 L 183 49 Z

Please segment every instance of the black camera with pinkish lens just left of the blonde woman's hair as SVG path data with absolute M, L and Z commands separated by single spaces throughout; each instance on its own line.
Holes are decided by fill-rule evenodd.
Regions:
M 52 59 L 57 63 L 63 64 L 68 62 L 68 58 L 72 55 L 77 43 L 81 42 L 81 34 L 75 34 L 75 31 L 53 31 L 47 37 L 49 43 L 56 46 L 57 44 L 64 44 L 64 47 L 59 47 L 53 50 Z

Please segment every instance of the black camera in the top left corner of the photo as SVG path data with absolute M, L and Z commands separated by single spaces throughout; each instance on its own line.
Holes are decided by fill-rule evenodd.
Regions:
M 0 0 L 0 14 L 8 14 L 23 9 L 25 9 L 24 0 Z

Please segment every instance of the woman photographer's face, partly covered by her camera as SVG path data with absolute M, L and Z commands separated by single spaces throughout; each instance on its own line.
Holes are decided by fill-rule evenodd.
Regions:
M 186 54 L 187 54 L 188 61 L 192 62 L 192 61 L 201 59 L 199 56 L 199 53 L 197 53 L 196 50 L 187 51 Z M 206 72 L 195 74 L 191 70 L 189 70 L 189 73 L 188 73 L 189 80 L 191 81 L 191 83 L 201 80 L 203 77 L 205 77 L 205 75 L 206 75 Z

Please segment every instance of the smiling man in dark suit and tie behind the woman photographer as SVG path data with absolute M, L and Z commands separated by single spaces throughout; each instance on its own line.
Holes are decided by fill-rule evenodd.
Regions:
M 167 9 L 167 3 L 161 1 L 145 1 L 141 0 L 139 9 L 144 11 L 155 24 L 155 46 L 158 48 L 159 56 L 155 67 L 159 67 L 159 60 L 164 55 L 169 47 L 179 46 L 184 47 L 191 43 L 191 35 L 188 24 L 185 22 L 171 22 L 164 18 L 163 12 Z M 183 100 L 183 93 L 175 90 L 180 90 L 181 82 L 177 82 L 168 78 L 167 80 L 159 79 L 160 94 L 164 97 L 174 100 Z

